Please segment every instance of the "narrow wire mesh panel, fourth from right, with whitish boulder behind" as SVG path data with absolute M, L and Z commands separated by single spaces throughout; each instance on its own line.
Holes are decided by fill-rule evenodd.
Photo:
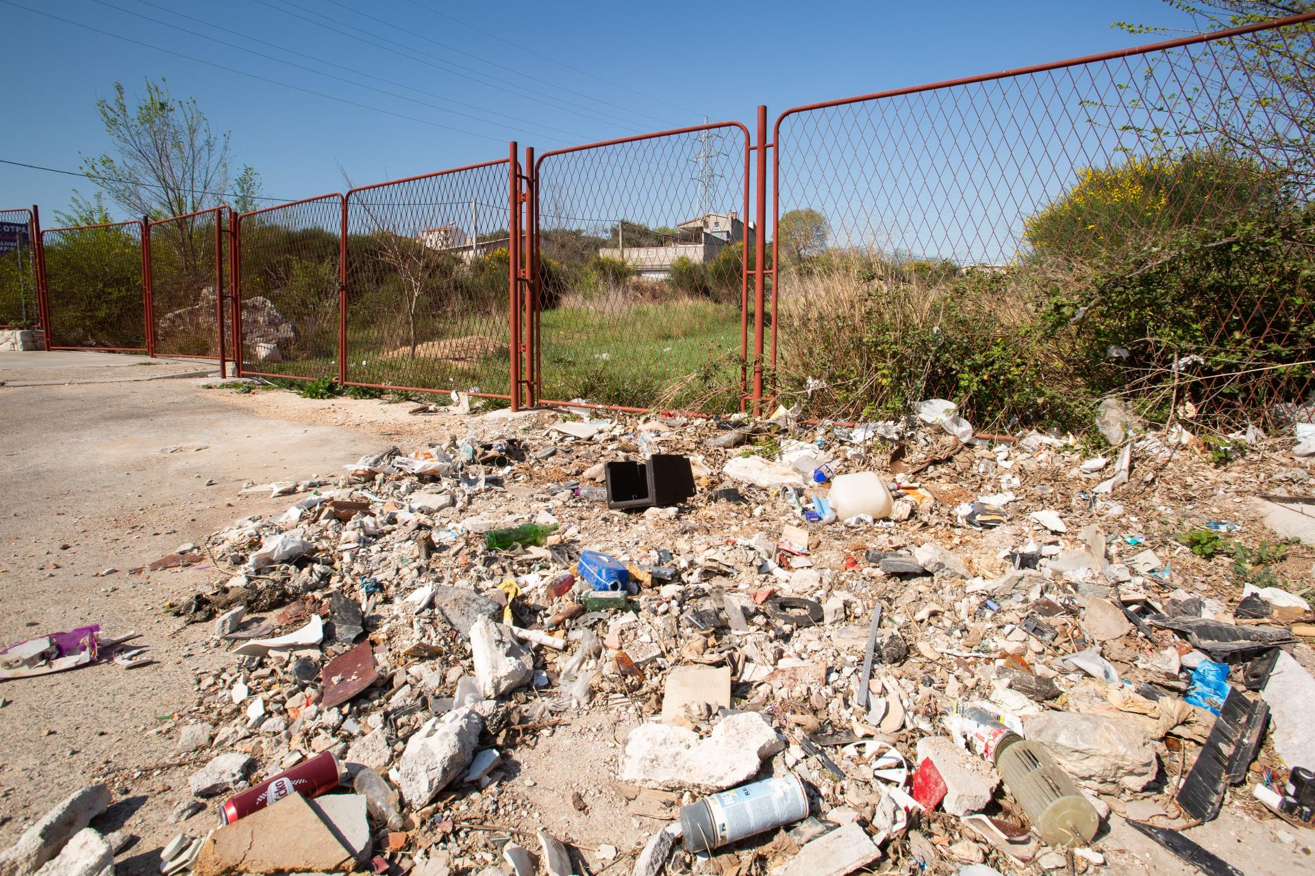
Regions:
M 342 196 L 238 217 L 242 373 L 338 377 Z

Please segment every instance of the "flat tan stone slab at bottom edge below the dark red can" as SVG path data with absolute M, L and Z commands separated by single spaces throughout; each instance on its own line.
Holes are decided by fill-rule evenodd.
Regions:
M 205 841 L 195 876 L 352 869 L 355 859 L 300 793 L 220 827 Z

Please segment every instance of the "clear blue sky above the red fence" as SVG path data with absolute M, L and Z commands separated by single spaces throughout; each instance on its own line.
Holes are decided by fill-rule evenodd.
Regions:
M 75 171 L 80 151 L 107 147 L 96 97 L 116 79 L 133 93 L 166 76 L 231 131 L 238 163 L 260 172 L 272 198 L 341 190 L 343 171 L 359 185 L 504 158 L 509 139 L 542 151 L 704 114 L 752 127 L 757 104 L 775 118 L 796 104 L 1151 39 L 1112 30 L 1118 20 L 1185 24 L 1159 0 L 0 0 L 0 159 Z M 95 188 L 0 164 L 0 208 L 39 204 L 47 226 L 74 186 Z

